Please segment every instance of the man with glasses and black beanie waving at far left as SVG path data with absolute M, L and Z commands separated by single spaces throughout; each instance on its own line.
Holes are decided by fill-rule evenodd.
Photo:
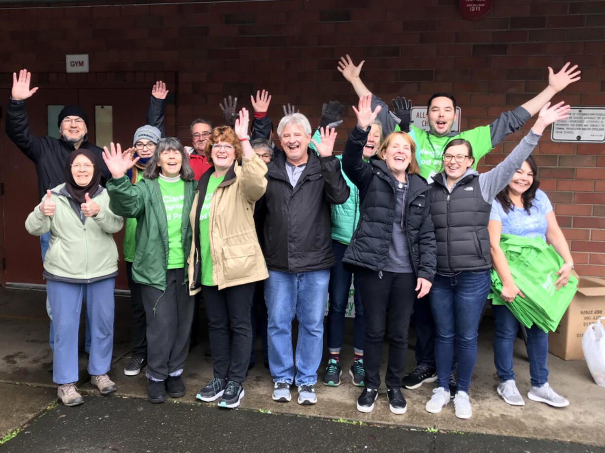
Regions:
M 60 138 L 48 135 L 37 137 L 31 132 L 27 111 L 25 111 L 25 100 L 38 91 L 38 87 L 30 89 L 30 81 L 31 72 L 27 69 L 21 69 L 19 76 L 13 72 L 13 88 L 6 109 L 6 133 L 21 152 L 36 165 L 38 199 L 41 200 L 45 196 L 47 189 L 65 182 L 67 157 L 73 150 L 80 148 L 89 149 L 96 156 L 97 164 L 100 166 L 101 185 L 104 186 L 111 175 L 103 162 L 103 150 L 88 141 L 88 117 L 80 106 L 65 106 L 60 111 L 57 118 Z M 50 232 L 40 236 L 43 262 L 48 250 L 49 239 Z M 51 318 L 49 344 L 50 349 L 53 349 L 53 318 L 48 300 L 47 312 Z M 87 329 L 86 332 L 88 334 L 90 329 Z M 90 338 L 87 338 L 86 341 L 85 349 L 87 351 L 88 345 L 90 345 Z

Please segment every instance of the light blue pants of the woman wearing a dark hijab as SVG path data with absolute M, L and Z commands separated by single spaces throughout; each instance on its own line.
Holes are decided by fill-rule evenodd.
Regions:
M 53 310 L 53 381 L 69 384 L 78 381 L 77 341 L 82 297 L 88 302 L 91 344 L 88 373 L 91 376 L 110 370 L 113 352 L 114 287 L 116 278 L 94 283 L 64 283 L 48 280 L 48 300 Z

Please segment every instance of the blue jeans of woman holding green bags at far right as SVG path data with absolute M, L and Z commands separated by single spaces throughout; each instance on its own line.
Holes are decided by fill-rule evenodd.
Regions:
M 515 379 L 512 371 L 512 345 L 517 338 L 519 321 L 508 307 L 492 305 L 495 316 L 494 332 L 494 365 L 500 377 L 500 382 Z M 528 333 L 527 352 L 529 358 L 529 376 L 531 385 L 542 387 L 548 382 L 548 333 L 535 324 Z

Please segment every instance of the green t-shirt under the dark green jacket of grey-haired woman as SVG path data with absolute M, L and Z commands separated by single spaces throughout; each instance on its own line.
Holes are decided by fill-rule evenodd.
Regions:
M 185 254 L 181 243 L 181 217 L 185 202 L 185 181 L 179 179 L 167 182 L 158 178 L 162 200 L 166 210 L 168 223 L 168 269 L 178 269 L 185 266 Z

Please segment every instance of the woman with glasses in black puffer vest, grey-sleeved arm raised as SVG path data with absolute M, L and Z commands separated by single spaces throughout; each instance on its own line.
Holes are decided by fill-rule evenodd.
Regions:
M 532 152 L 551 123 L 567 118 L 569 106 L 547 103 L 528 135 L 487 173 L 473 170 L 473 149 L 463 139 L 443 150 L 443 171 L 433 179 L 428 199 L 437 240 L 437 274 L 429 300 L 435 321 L 437 388 L 426 410 L 438 413 L 450 402 L 450 371 L 457 347 L 456 416 L 473 415 L 468 390 L 477 360 L 477 329 L 489 293 L 491 269 L 488 222 L 497 193 Z

